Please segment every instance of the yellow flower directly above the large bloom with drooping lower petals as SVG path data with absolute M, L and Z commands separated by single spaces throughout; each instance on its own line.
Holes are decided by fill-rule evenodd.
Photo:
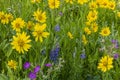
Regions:
M 34 12 L 33 16 L 38 22 L 46 22 L 46 12 L 43 12 L 42 10 L 37 10 L 36 12 Z

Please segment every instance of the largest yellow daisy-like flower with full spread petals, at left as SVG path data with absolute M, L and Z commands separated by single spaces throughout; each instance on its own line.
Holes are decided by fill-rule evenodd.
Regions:
M 19 53 L 24 53 L 24 51 L 28 51 L 31 45 L 29 44 L 31 40 L 30 36 L 27 36 L 26 33 L 17 33 L 17 36 L 13 36 L 13 41 L 11 45 L 13 49 L 16 49 Z

